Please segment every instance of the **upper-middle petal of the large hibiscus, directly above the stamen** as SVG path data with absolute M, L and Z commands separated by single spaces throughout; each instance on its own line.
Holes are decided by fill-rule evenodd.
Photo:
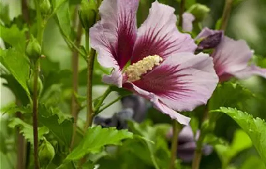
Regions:
M 189 34 L 180 33 L 176 27 L 175 9 L 155 1 L 146 21 L 138 29 L 132 63 L 149 55 L 163 58 L 177 52 L 194 52 L 196 44 Z

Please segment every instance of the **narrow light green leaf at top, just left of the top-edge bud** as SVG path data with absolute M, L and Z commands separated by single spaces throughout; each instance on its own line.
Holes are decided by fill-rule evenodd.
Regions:
M 69 2 L 64 2 L 56 13 L 56 21 L 59 25 L 62 33 L 68 37 L 71 34 L 71 20 L 70 20 L 70 12 L 69 12 Z

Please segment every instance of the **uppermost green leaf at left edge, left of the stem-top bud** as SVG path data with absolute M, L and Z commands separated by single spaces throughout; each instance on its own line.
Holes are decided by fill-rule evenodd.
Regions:
M 0 30 L 0 37 L 4 42 L 16 48 L 20 52 L 20 55 L 22 55 L 26 45 L 26 29 L 19 30 L 16 25 L 12 25 L 11 28 L 6 28 L 0 24 Z

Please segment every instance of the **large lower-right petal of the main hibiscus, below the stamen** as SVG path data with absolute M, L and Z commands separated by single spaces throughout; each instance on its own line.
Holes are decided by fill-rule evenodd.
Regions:
M 207 54 L 178 53 L 167 57 L 133 84 L 154 93 L 171 109 L 192 111 L 207 103 L 217 82 L 212 59 Z

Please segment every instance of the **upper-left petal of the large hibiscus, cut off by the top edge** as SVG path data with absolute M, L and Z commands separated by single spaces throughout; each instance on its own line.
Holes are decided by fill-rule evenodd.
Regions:
M 90 28 L 91 47 L 104 67 L 130 60 L 136 40 L 136 11 L 139 0 L 104 0 L 99 8 L 101 20 Z

